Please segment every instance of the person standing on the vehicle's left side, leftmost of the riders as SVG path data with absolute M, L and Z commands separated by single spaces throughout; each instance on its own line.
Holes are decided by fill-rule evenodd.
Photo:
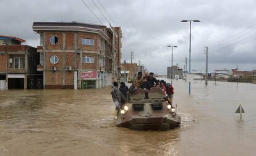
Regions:
M 120 106 L 126 103 L 126 97 L 124 97 L 122 95 L 121 91 L 119 91 L 118 83 L 116 81 L 113 82 L 113 88 L 111 89 L 111 95 L 112 95 L 114 104 L 116 105 L 115 118 L 117 118 Z

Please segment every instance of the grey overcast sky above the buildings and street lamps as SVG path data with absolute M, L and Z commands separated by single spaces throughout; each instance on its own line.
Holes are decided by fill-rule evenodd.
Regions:
M 256 68 L 256 1 L 255 0 L 81 0 L 19 1 L 0 0 L 0 34 L 27 40 L 38 46 L 40 36 L 33 32 L 33 22 L 71 22 L 120 26 L 123 35 L 122 61 L 145 65 L 150 72 L 166 73 L 173 64 L 184 67 L 189 57 L 189 23 L 192 23 L 191 69 L 205 71 L 204 47 L 208 46 L 209 69 Z M 106 12 L 112 18 L 109 19 Z M 187 67 L 189 68 L 189 67 Z

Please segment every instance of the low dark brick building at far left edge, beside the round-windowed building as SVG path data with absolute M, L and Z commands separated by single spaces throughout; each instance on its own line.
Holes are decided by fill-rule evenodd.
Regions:
M 24 39 L 0 35 L 0 88 L 43 88 L 43 73 L 36 71 L 40 55 Z

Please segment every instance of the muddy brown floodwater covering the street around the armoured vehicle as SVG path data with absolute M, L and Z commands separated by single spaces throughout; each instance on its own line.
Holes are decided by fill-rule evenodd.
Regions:
M 169 131 L 117 128 L 110 88 L 1 90 L 0 155 L 256 155 L 255 84 L 173 83 Z

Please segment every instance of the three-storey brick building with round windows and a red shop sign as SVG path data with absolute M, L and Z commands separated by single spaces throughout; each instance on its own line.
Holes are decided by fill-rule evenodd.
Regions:
M 101 88 L 116 80 L 114 28 L 34 22 L 33 30 L 40 34 L 38 70 L 43 70 L 45 88 Z

